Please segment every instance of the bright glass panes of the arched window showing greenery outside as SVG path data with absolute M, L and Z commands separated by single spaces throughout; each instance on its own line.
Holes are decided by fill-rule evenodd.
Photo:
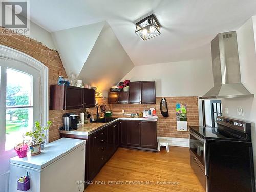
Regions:
M 5 150 L 11 150 L 20 140 L 20 136 L 33 130 L 33 121 L 39 119 L 33 114 L 34 76 L 12 68 L 2 67 L 6 74 L 6 115 L 5 115 Z M 32 69 L 31 69 L 32 70 Z

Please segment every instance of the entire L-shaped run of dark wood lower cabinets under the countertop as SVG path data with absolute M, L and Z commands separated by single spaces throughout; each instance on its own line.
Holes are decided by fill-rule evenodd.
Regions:
M 157 151 L 156 122 L 114 122 L 89 136 L 61 133 L 61 137 L 86 140 L 86 181 L 93 181 L 119 146 Z M 87 185 L 86 185 L 87 187 Z

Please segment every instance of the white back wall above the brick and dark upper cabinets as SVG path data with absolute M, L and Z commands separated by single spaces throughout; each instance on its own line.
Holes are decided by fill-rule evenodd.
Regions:
M 156 81 L 157 97 L 202 96 L 213 87 L 211 52 L 200 60 L 135 66 L 123 80 Z

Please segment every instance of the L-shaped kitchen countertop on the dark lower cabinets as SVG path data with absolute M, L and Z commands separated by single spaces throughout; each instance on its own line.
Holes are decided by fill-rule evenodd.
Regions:
M 83 127 L 79 127 L 77 130 L 71 130 L 71 131 L 62 130 L 61 133 L 87 136 L 118 120 L 157 121 L 157 119 L 147 119 L 147 118 L 132 118 L 132 117 L 123 117 L 123 116 L 122 117 L 112 116 L 112 117 L 117 119 L 114 119 L 113 121 L 110 121 L 108 123 L 87 123 L 87 124 L 84 124 Z

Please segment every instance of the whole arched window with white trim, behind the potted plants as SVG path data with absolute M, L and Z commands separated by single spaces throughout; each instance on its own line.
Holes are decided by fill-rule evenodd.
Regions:
M 48 120 L 48 68 L 33 57 L 0 45 L 1 174 L 9 169 L 13 147 L 34 122 Z M 48 133 L 47 133 L 48 134 Z M 0 182 L 1 183 L 1 182 Z

